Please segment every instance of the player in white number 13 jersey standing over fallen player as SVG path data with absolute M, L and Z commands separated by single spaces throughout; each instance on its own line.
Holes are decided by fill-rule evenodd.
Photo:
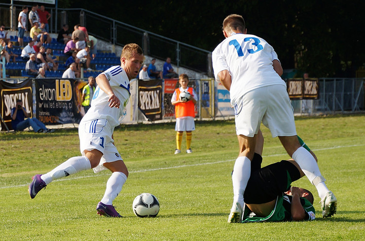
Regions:
M 232 14 L 226 17 L 223 21 L 226 39 L 212 53 L 215 78 L 230 91 L 240 146 L 232 174 L 234 198 L 228 222 L 241 221 L 243 193 L 250 177 L 261 122 L 270 129 L 273 137 L 279 137 L 289 156 L 316 186 L 322 200 L 323 216 L 331 216 L 336 213 L 337 199 L 324 184 L 325 179 L 313 156 L 299 143 L 286 85 L 280 78 L 283 70 L 277 55 L 264 39 L 246 32 L 242 16 Z

